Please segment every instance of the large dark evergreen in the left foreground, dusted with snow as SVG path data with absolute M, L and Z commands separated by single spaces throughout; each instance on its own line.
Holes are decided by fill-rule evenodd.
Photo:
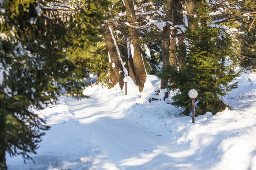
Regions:
M 49 126 L 34 110 L 56 103 L 63 91 L 86 97 L 83 47 L 101 33 L 98 25 L 107 4 L 80 1 L 79 7 L 55 8 L 57 3 L 0 1 L 0 169 L 7 168 L 5 152 L 24 159 L 36 153 Z

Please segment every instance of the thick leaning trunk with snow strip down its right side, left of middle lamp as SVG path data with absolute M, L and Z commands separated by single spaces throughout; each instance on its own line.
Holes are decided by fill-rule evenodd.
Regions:
M 124 79 L 124 76 L 128 74 L 128 72 L 127 72 L 126 68 L 124 68 L 124 64 L 123 64 L 119 49 L 116 44 L 112 20 L 105 21 L 105 25 L 103 27 L 105 28 L 104 39 L 106 42 L 106 46 L 107 46 L 108 53 L 109 53 L 109 58 L 111 61 L 111 63 L 109 63 L 110 78 L 111 78 L 111 83 L 110 83 L 109 88 L 114 86 L 117 82 L 119 82 L 119 86 L 121 88 L 123 88 L 123 86 L 124 86 L 123 79 Z

